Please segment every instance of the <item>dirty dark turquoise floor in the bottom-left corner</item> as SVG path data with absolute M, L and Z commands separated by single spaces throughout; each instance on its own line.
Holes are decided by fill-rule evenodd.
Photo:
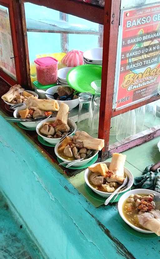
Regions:
M 0 259 L 43 259 L 0 193 Z

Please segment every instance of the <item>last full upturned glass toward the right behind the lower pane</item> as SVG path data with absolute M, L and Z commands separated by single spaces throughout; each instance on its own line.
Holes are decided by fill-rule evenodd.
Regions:
M 156 119 L 156 102 L 145 105 L 145 119 L 144 125 L 148 128 L 155 126 Z

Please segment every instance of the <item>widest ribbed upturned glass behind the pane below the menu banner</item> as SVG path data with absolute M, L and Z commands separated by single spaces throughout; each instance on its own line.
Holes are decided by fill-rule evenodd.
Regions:
M 136 114 L 135 110 L 121 114 L 117 126 L 116 139 L 121 141 L 136 134 Z

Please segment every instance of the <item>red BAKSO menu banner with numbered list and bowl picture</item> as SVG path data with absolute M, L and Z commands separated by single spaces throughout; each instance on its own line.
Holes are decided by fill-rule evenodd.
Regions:
M 123 10 L 121 24 L 115 79 L 115 107 L 119 109 L 159 91 L 160 4 Z

